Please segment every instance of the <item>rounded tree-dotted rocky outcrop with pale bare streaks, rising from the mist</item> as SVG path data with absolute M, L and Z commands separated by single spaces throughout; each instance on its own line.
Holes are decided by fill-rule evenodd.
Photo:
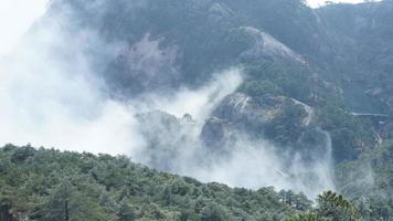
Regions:
M 296 106 L 295 109 L 300 109 L 302 114 L 287 113 L 288 106 Z M 287 119 L 288 117 L 290 119 Z M 325 146 L 326 141 L 322 138 L 326 135 L 312 126 L 314 120 L 314 108 L 297 99 L 275 95 L 251 97 L 243 93 L 234 93 L 227 95 L 215 107 L 211 118 L 202 128 L 201 140 L 208 148 L 219 150 L 223 147 L 230 148 L 238 136 L 252 139 L 267 138 L 275 141 L 276 136 L 280 136 L 277 133 L 286 131 L 279 129 L 285 125 L 289 128 L 298 128 L 296 133 L 290 133 L 296 135 L 291 140 L 291 146 L 295 149 L 297 145 Z M 272 129 L 274 136 L 269 137 Z M 277 129 L 278 131 L 276 131 Z M 311 139 L 312 136 L 322 138 Z M 319 144 L 320 140 L 323 144 Z

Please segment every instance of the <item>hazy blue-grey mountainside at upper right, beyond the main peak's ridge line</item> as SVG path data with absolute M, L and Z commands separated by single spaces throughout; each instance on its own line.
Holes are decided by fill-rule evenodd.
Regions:
M 392 10 L 390 0 L 318 10 L 334 40 L 334 69 L 341 74 L 347 102 L 358 112 L 386 113 L 392 108 Z

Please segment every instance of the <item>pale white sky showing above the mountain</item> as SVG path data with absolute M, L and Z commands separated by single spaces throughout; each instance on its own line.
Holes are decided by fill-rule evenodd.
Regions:
M 0 55 L 9 52 L 35 19 L 45 11 L 49 0 L 0 0 Z M 333 2 L 359 3 L 362 0 L 331 0 Z M 311 7 L 325 0 L 308 0 Z

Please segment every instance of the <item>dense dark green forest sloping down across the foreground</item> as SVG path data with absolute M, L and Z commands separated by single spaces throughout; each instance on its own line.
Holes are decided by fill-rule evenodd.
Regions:
M 1 220 L 282 220 L 310 207 L 301 194 L 201 183 L 121 156 L 8 145 L 0 165 Z

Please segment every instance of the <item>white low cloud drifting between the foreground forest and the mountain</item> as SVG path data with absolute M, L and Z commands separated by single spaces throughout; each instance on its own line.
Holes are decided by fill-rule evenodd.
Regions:
M 68 17 L 72 11 L 49 14 L 53 18 L 38 23 L 15 51 L 0 61 L 1 145 L 30 143 L 63 150 L 126 154 L 157 166 L 151 161 L 153 156 L 157 164 L 166 162 L 166 169 L 203 181 L 248 188 L 274 186 L 310 197 L 333 188 L 328 135 L 327 157 L 312 165 L 305 165 L 301 157 L 283 157 L 268 141 L 242 135 L 229 155 L 217 156 L 203 147 L 199 137 L 203 124 L 213 108 L 241 85 L 241 69 L 212 74 L 211 81 L 198 88 L 180 86 L 167 95 L 114 99 L 97 73 L 121 53 L 126 43 L 106 42 L 95 30 L 78 30 L 67 23 L 64 14 Z M 145 46 L 148 50 L 138 52 L 161 57 L 159 46 Z M 159 70 L 155 72 L 159 74 Z M 162 122 L 141 125 L 136 116 L 155 109 L 173 115 L 179 127 L 169 130 Z M 194 122 L 182 123 L 184 114 Z M 156 148 L 160 149 L 150 149 L 149 133 L 158 136 Z

